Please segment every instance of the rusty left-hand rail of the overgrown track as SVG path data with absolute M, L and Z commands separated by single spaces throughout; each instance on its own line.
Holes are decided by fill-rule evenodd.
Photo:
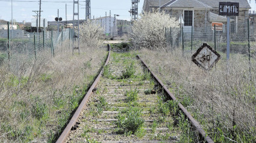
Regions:
M 107 60 L 105 61 L 105 65 L 108 64 L 108 61 L 110 61 L 110 44 L 108 44 L 108 57 Z M 93 89 L 96 87 L 96 85 L 99 82 L 99 79 L 102 76 L 102 72 L 103 69 L 101 70 L 101 72 L 99 73 L 98 77 L 95 79 L 95 81 L 93 82 L 92 86 L 90 87 L 90 89 L 87 91 L 86 96 L 84 96 L 83 101 L 80 103 L 80 105 L 78 106 L 78 108 L 75 111 L 75 114 L 73 114 L 73 117 L 71 118 L 71 120 L 69 121 L 69 124 L 67 124 L 66 128 L 63 130 L 63 132 L 61 133 L 60 137 L 58 138 L 58 140 L 56 141 L 57 143 L 63 143 L 66 141 L 67 137 L 69 136 L 70 131 L 72 130 L 72 128 L 75 126 L 76 121 L 78 120 L 78 117 L 80 116 L 81 112 L 83 111 L 84 108 L 86 108 L 86 103 L 88 102 L 88 99 L 90 97 L 90 95 L 93 92 Z

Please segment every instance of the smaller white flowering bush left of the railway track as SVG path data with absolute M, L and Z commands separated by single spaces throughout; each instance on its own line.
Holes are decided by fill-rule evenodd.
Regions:
M 101 45 L 99 38 L 102 34 L 103 28 L 101 28 L 101 25 L 91 20 L 87 20 L 80 25 L 80 41 L 89 47 Z

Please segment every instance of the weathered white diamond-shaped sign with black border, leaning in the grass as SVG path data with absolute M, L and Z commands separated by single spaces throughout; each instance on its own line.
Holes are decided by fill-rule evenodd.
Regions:
M 213 50 L 208 44 L 204 43 L 192 56 L 192 61 L 205 70 L 210 70 L 214 63 L 219 61 L 220 55 Z

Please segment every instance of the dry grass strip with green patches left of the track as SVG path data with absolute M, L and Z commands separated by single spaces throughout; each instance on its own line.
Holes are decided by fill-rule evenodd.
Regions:
M 0 142 L 52 141 L 66 123 L 107 55 L 105 48 L 85 47 L 78 55 L 69 42 L 38 53 L 16 73 L 0 67 Z

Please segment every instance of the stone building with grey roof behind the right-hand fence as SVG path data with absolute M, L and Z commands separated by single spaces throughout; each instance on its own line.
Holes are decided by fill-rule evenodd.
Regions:
M 161 11 L 166 11 L 176 19 L 183 16 L 184 31 L 191 31 L 192 26 L 195 29 L 209 29 L 212 22 L 226 23 L 226 17 L 219 16 L 219 2 L 225 1 L 239 2 L 239 16 L 231 16 L 231 24 L 247 22 L 249 9 L 251 8 L 247 0 L 169 0 L 167 2 L 163 1 L 166 3 L 161 5 Z M 145 0 L 143 10 L 146 12 L 152 11 L 153 4 L 159 5 L 159 1 Z M 231 26 L 231 31 L 236 32 L 240 29 L 239 25 Z

